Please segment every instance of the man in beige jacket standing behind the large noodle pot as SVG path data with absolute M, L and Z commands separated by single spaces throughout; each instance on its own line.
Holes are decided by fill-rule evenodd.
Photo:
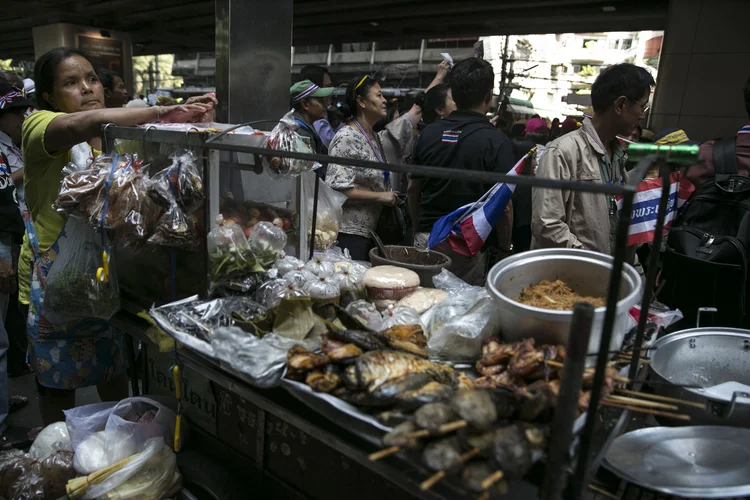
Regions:
M 604 70 L 591 88 L 594 116 L 547 145 L 538 177 L 622 183 L 627 154 L 617 135 L 627 136 L 649 108 L 653 77 L 632 64 Z M 535 188 L 532 248 L 582 248 L 612 253 L 617 206 L 606 194 Z

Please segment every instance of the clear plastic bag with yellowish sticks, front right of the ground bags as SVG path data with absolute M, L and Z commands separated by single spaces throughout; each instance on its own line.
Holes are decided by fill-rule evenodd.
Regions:
M 153 438 L 122 469 L 90 486 L 83 498 L 158 500 L 178 487 L 180 481 L 174 452 L 163 438 Z

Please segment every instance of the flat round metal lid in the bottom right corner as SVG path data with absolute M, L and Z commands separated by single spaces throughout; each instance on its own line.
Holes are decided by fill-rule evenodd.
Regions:
M 631 483 L 682 498 L 747 496 L 750 429 L 639 429 L 614 440 L 604 466 Z

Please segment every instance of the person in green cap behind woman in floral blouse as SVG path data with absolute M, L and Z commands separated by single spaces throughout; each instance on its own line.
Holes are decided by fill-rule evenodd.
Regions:
M 299 128 L 297 133 L 310 139 L 310 145 L 318 154 L 328 154 L 328 147 L 313 128 L 318 120 L 328 117 L 328 105 L 331 104 L 333 88 L 323 88 L 310 80 L 302 80 L 289 89 L 294 119 Z

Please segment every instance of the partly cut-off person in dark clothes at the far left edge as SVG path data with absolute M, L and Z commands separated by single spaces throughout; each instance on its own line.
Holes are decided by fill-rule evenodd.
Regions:
M 23 180 L 19 146 L 21 126 L 29 106 L 31 102 L 26 99 L 20 88 L 7 81 L 0 82 L 0 435 L 3 443 L 10 444 L 23 441 L 25 434 L 18 429 L 8 428 L 5 424 L 8 413 L 14 409 L 8 394 L 7 368 L 10 344 L 5 320 L 9 308 L 18 307 L 17 301 L 12 303 L 11 300 L 18 291 L 14 247 L 20 246 L 24 224 L 18 207 L 16 184 Z M 15 172 L 13 166 L 17 167 Z M 14 398 L 18 400 L 17 397 Z M 22 406 L 27 400 L 22 398 L 18 402 Z

